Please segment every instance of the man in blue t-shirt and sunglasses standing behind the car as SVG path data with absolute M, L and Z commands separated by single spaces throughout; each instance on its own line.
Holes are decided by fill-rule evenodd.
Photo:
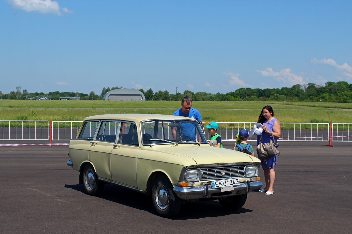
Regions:
M 181 101 L 181 109 L 175 111 L 172 115 L 177 116 L 184 116 L 188 118 L 192 118 L 198 120 L 201 125 L 202 123 L 202 116 L 200 115 L 199 111 L 192 108 L 192 99 L 188 96 L 182 98 Z M 181 123 L 181 133 L 182 135 L 187 135 L 190 137 L 191 141 L 196 141 L 196 127 L 193 123 Z M 176 128 L 172 128 L 172 136 L 176 140 Z M 189 140 L 188 138 L 183 138 L 184 140 Z M 202 141 L 201 136 L 198 134 L 199 142 Z

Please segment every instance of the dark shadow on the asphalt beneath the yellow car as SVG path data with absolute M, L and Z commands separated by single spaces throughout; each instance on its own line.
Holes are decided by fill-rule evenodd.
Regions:
M 83 185 L 65 185 L 65 188 L 71 188 L 86 194 Z M 106 184 L 104 186 L 103 192 L 98 197 L 131 208 L 145 210 L 151 214 L 157 215 L 150 196 L 146 196 L 143 193 L 134 192 L 130 189 Z M 219 217 L 229 214 L 242 214 L 252 211 L 253 210 L 245 208 L 240 208 L 238 210 L 226 210 L 217 200 L 206 200 L 199 202 L 187 202 L 182 204 L 180 212 L 177 214 L 177 216 L 170 219 L 201 219 L 207 217 Z

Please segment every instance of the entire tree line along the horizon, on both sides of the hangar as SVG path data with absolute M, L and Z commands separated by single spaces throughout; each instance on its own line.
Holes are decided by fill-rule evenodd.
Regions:
M 103 88 L 100 95 L 95 92 L 89 94 L 63 92 L 50 92 L 48 94 L 42 93 L 28 93 L 26 89 L 21 86 L 16 87 L 16 91 L 11 91 L 9 94 L 3 94 L 0 91 L 1 99 L 26 99 L 34 96 L 49 96 L 50 99 L 58 100 L 59 97 L 80 97 L 81 100 L 102 100 L 106 92 L 119 89 L 122 87 Z M 252 89 L 239 88 L 234 92 L 222 93 L 206 93 L 186 90 L 182 94 L 170 94 L 168 91 L 159 90 L 153 92 L 152 89 L 144 91 L 139 89 L 146 100 L 181 100 L 184 96 L 190 96 L 194 101 L 256 101 L 256 100 L 275 100 L 275 101 L 323 101 L 323 102 L 352 102 L 352 83 L 348 84 L 346 81 L 326 82 L 324 86 L 316 85 L 315 83 L 308 83 L 302 85 L 294 85 L 292 87 L 266 88 L 266 89 Z

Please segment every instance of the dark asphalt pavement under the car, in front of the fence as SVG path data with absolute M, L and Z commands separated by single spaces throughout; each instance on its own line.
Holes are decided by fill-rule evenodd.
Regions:
M 351 233 L 352 144 L 325 145 L 282 142 L 271 196 L 251 192 L 237 212 L 188 203 L 172 219 L 113 185 L 86 195 L 66 165 L 68 146 L 0 147 L 0 233 Z

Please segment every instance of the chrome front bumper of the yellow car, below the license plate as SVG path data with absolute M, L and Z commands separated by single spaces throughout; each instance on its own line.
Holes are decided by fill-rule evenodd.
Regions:
M 220 188 L 213 189 L 211 184 L 208 185 L 207 183 L 204 183 L 202 186 L 175 187 L 173 190 L 179 198 L 190 200 L 200 198 L 222 198 L 236 194 L 249 193 L 253 189 L 261 188 L 262 185 L 263 184 L 260 181 L 249 182 L 246 180 L 246 182 L 240 183 L 240 185 L 233 186 L 233 190 L 227 192 L 221 192 Z

